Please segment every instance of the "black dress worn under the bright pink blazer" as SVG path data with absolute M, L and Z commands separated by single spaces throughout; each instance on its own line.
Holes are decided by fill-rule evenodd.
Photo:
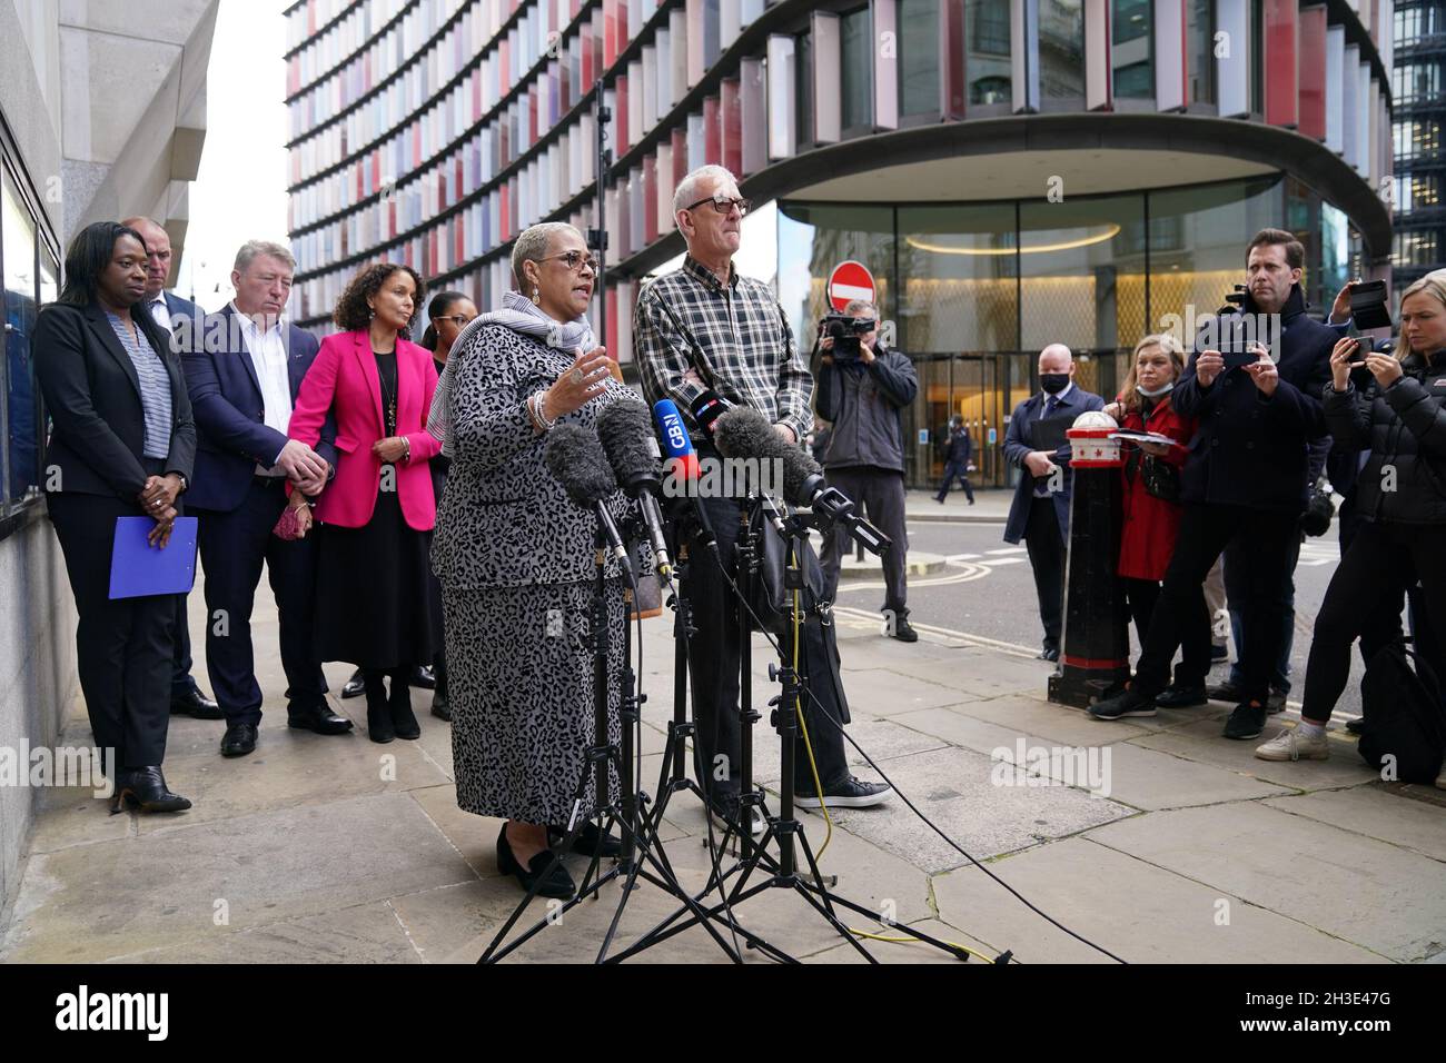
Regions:
M 386 434 L 396 435 L 396 354 L 377 354 Z M 360 451 L 362 460 L 367 451 Z M 341 461 L 348 456 L 343 454 Z M 348 661 L 369 671 L 431 664 L 441 648 L 429 554 L 432 534 L 409 528 L 383 464 L 376 509 L 362 528 L 318 529 L 317 649 L 322 661 Z M 383 490 L 388 484 L 389 490 Z

